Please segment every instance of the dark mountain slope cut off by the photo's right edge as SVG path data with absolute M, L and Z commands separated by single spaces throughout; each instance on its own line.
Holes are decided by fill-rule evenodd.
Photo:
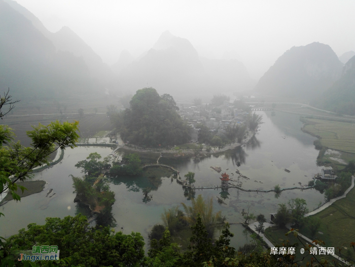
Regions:
M 316 106 L 340 114 L 355 115 L 355 56 L 346 62 L 341 78 L 322 95 Z

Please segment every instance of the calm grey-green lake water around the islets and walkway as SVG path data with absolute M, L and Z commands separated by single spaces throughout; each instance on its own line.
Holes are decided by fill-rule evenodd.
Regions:
M 271 116 L 271 112 L 263 114 L 264 124 L 259 128 L 255 138 L 242 148 L 220 155 L 206 158 L 191 158 L 187 160 L 167 159 L 162 157 L 159 163 L 166 163 L 180 170 L 183 176 L 188 171 L 195 172 L 196 186 L 213 186 L 220 183 L 220 173 L 212 170 L 210 166 L 220 166 L 222 172 L 227 172 L 237 184 L 238 169 L 250 180 L 240 179 L 245 189 L 272 189 L 275 185 L 281 188 L 307 184 L 313 174 L 320 172 L 321 167 L 316 166 L 315 160 L 318 151 L 314 149 L 315 138 L 303 133 L 299 116 L 278 113 Z M 78 213 L 86 213 L 85 209 L 73 202 L 72 178 L 82 173 L 74 165 L 85 159 L 91 152 L 98 152 L 102 157 L 111 154 L 111 148 L 78 147 L 74 150 L 66 149 L 64 159 L 60 164 L 35 174 L 34 179 L 47 181 L 43 192 L 28 196 L 22 202 L 10 201 L 2 207 L 5 217 L 0 218 L 0 236 L 8 237 L 25 228 L 30 222 L 44 224 L 46 217 L 61 217 Z M 237 163 L 241 165 L 238 167 Z M 291 172 L 288 173 L 284 169 Z M 221 173 L 222 173 L 221 172 Z M 234 174 L 234 175 L 233 175 Z M 153 198 L 145 203 L 142 189 L 150 187 Z M 52 198 L 46 197 L 50 188 L 56 193 Z M 144 177 L 114 179 L 111 190 L 116 193 L 116 202 L 113 205 L 113 214 L 117 220 L 116 231 L 140 232 L 148 241 L 148 233 L 153 225 L 162 223 L 160 219 L 164 208 L 180 205 L 189 200 L 184 196 L 184 190 L 170 177 L 149 180 Z M 279 198 L 274 193 L 242 192 L 229 189 L 226 205 L 219 205 L 217 197 L 221 197 L 220 190 L 196 191 L 196 196 L 213 198 L 215 210 L 222 210 L 229 222 L 241 222 L 242 209 L 250 206 L 254 214 L 263 213 L 269 218 L 269 213 L 277 210 L 277 204 L 286 203 L 291 198 L 304 198 L 308 208 L 312 210 L 319 202 L 324 202 L 324 196 L 315 190 L 292 190 L 282 192 Z M 122 228 L 122 230 L 121 230 Z M 246 242 L 240 225 L 232 225 L 231 231 L 235 234 L 232 245 L 238 247 Z

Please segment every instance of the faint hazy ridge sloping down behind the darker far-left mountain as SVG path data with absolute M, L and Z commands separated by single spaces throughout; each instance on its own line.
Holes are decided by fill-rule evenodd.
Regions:
M 98 56 L 92 48 L 69 27 L 62 27 L 55 33 L 50 32 L 37 17 L 19 5 L 16 1 L 3 1 L 8 3 L 26 19 L 30 20 L 35 28 L 52 41 L 56 50 L 73 53 L 76 57 L 83 57 L 93 81 L 105 84 L 112 79 L 113 73 L 110 67 L 103 63 L 101 57 Z

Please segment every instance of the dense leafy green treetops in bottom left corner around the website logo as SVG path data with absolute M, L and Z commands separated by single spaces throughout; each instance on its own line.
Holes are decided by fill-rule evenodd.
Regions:
M 112 233 L 109 227 L 90 228 L 86 216 L 47 218 L 46 224 L 29 224 L 8 239 L 0 251 L 8 254 L 12 248 L 32 250 L 35 245 L 58 245 L 60 257 L 70 257 L 77 266 L 139 266 L 144 262 L 144 239 L 139 233 Z M 42 264 L 43 263 L 43 264 Z M 43 266 L 45 261 L 40 265 Z M 20 264 L 20 263 L 17 263 Z

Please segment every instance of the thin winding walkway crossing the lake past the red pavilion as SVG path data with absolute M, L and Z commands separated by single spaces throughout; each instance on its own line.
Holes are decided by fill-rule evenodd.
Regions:
M 165 168 L 171 169 L 172 171 L 176 171 L 176 173 L 177 173 L 176 183 L 182 185 L 183 188 L 190 188 L 190 189 L 195 190 L 195 191 L 196 190 L 200 190 L 200 189 L 203 190 L 203 189 L 219 189 L 219 188 L 223 188 L 223 189 L 236 188 L 236 189 L 239 189 L 239 190 L 244 191 L 244 192 L 262 192 L 262 193 L 276 192 L 275 189 L 270 189 L 270 190 L 244 189 L 244 188 L 241 188 L 239 186 L 230 186 L 230 185 L 213 186 L 213 187 L 204 187 L 204 186 L 195 187 L 195 186 L 188 185 L 186 182 L 181 180 L 180 171 L 174 169 L 173 167 L 171 167 L 169 165 L 165 165 L 165 164 L 150 164 L 150 165 L 145 165 L 142 168 L 144 169 L 144 168 L 148 168 L 148 167 L 165 167 Z M 282 188 L 282 189 L 277 190 L 277 191 L 278 192 L 282 192 L 282 191 L 294 190 L 294 189 L 307 190 L 307 189 L 312 189 L 313 187 L 314 186 L 310 186 L 310 187 L 289 187 L 289 188 Z

